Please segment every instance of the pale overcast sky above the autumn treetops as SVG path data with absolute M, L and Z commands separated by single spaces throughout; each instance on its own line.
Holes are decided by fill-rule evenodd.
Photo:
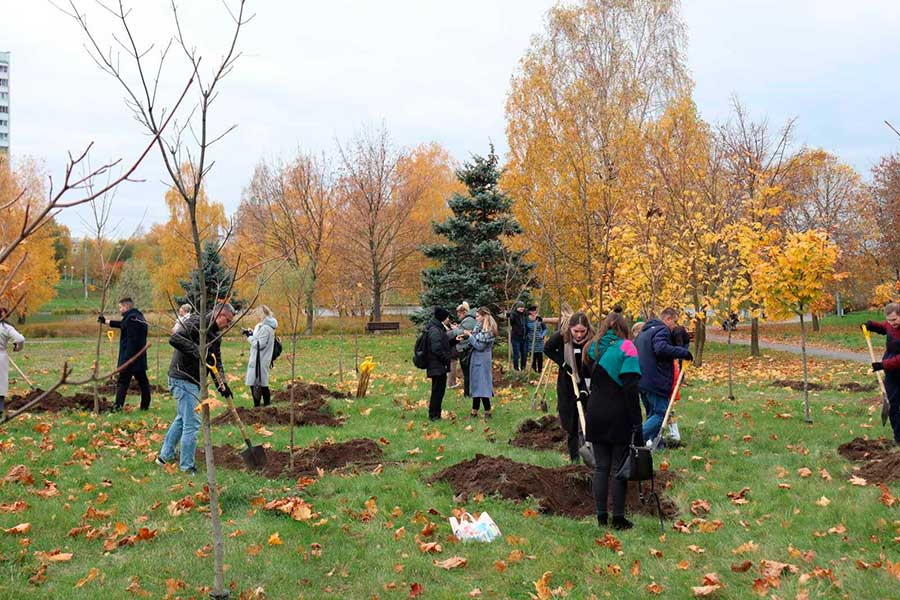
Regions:
M 138 38 L 165 40 L 172 30 L 168 0 L 132 4 Z M 227 15 L 217 0 L 182 4 L 186 34 L 209 67 L 223 51 Z M 554 3 L 248 4 L 256 17 L 213 113 L 217 130 L 238 124 L 214 148 L 208 180 L 210 196 L 229 214 L 261 157 L 297 147 L 330 152 L 365 126 L 383 123 L 400 146 L 436 141 L 458 160 L 486 152 L 489 141 L 505 153 L 509 80 Z M 89 141 L 94 164 L 135 157 L 146 138 L 121 88 L 87 57 L 76 24 L 47 0 L 4 5 L 0 50 L 12 51 L 14 160 L 38 158 L 58 178 L 66 152 Z M 81 5 L 101 36 L 112 30 L 94 2 Z M 864 172 L 900 149 L 883 124 L 900 123 L 900 2 L 684 0 L 683 15 L 695 99 L 707 120 L 727 118 L 736 95 L 775 127 L 797 117 L 798 143 L 824 147 Z M 170 75 L 169 98 L 186 81 L 183 72 Z M 145 182 L 122 188 L 116 200 L 121 235 L 145 213 L 145 224 L 167 217 L 155 153 L 139 176 Z M 61 217 L 76 236 L 84 231 L 80 214 Z

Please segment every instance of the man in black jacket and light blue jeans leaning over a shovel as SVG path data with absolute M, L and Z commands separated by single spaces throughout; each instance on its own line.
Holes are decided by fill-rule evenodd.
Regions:
M 227 303 L 216 304 L 209 317 L 204 319 L 207 326 L 206 360 L 219 369 L 221 380 L 215 382 L 216 389 L 227 398 L 232 394 L 222 372 L 221 336 L 233 319 L 234 308 Z M 190 474 L 197 472 L 194 454 L 197 451 L 197 431 L 200 430 L 200 415 L 195 411 L 200 403 L 200 323 L 200 315 L 192 315 L 169 338 L 169 344 L 175 348 L 169 365 L 169 390 L 175 398 L 177 412 L 156 457 L 156 464 L 168 464 L 175 459 L 175 447 L 180 443 L 178 468 Z M 207 374 L 209 372 L 207 370 Z

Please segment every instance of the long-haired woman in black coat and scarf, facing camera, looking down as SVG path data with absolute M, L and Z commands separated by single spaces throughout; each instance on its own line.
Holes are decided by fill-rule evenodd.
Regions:
M 556 408 L 559 424 L 568 434 L 569 459 L 572 464 L 579 460 L 578 448 L 580 427 L 575 401 L 580 391 L 587 392 L 587 382 L 581 377 L 582 350 L 591 341 L 594 330 L 583 312 L 574 313 L 567 321 L 560 322 L 559 331 L 550 336 L 544 344 L 544 354 L 559 365 L 556 378 Z M 572 373 L 578 380 L 579 391 L 572 387 Z

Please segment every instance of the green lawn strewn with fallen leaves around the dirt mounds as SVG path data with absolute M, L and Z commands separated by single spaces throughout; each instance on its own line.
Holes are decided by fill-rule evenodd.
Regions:
M 724 585 L 712 595 L 718 598 L 757 597 L 755 580 L 760 590 L 769 586 L 762 594 L 766 597 L 897 597 L 900 567 L 890 561 L 900 561 L 900 502 L 893 507 L 882 503 L 883 492 L 874 482 L 851 484 L 854 465 L 836 452 L 856 436 L 888 433 L 878 420 L 877 405 L 869 401 L 877 393 L 834 390 L 838 383 L 869 382 L 864 365 L 812 363 L 812 379 L 828 389 L 813 394 L 815 422 L 807 425 L 801 419 L 801 393 L 769 384 L 799 378 L 797 358 L 767 354 L 752 359 L 738 349 L 737 400 L 729 402 L 723 346 L 712 344 L 706 365 L 690 372 L 690 386 L 679 405 L 686 445 L 656 455 L 657 466 L 665 463 L 678 475 L 667 494 L 679 505 L 680 518 L 706 520 L 690 527 L 690 533 L 667 522 L 661 535 L 658 522 L 638 516 L 635 529 L 616 532 L 621 548 L 614 550 L 597 543 L 605 532 L 594 519 L 534 514 L 529 509 L 537 507 L 535 501 L 516 504 L 476 496 L 465 508 L 488 510 L 504 537 L 490 544 L 461 544 L 450 537 L 447 523 L 458 507 L 453 492 L 447 484 L 426 484 L 431 474 L 476 453 L 543 466 L 562 466 L 566 460 L 554 451 L 507 443 L 519 423 L 539 415 L 530 411 L 530 387 L 498 389 L 490 422 L 462 418 L 467 403 L 450 391 L 444 408 L 460 418 L 429 423 L 424 407 L 428 385 L 411 364 L 412 346 L 412 335 L 361 337 L 361 355 L 371 354 L 378 364 L 369 397 L 331 401 L 333 411 L 347 419 L 343 427 L 296 430 L 300 446 L 381 440 L 382 469 L 324 473 L 302 490 L 293 479 L 217 471 L 228 535 L 225 576 L 233 598 L 418 594 L 526 599 L 537 594 L 534 582 L 546 572 L 554 595 L 570 598 L 645 598 L 654 591 L 665 598 L 689 598 L 692 586 L 703 585 L 710 573 Z M 63 360 L 86 369 L 89 348 L 87 340 L 36 341 L 15 358 L 47 385 Z M 243 348 L 235 340 L 223 351 L 228 372 L 241 380 Z M 152 348 L 151 380 L 157 380 L 155 353 Z M 169 355 L 167 347 L 161 348 L 163 378 Z M 111 353 L 104 351 L 103 360 L 109 363 Z M 287 380 L 288 360 L 286 355 L 276 365 L 274 388 Z M 341 387 L 336 337 L 304 339 L 297 363 L 304 379 Z M 352 341 L 344 351 L 347 364 L 352 369 Z M 232 386 L 237 402 L 249 406 L 242 382 Z M 16 381 L 13 388 L 24 391 L 25 386 Z M 355 381 L 348 379 L 341 389 L 351 388 Z M 137 398 L 130 398 L 129 405 L 135 407 Z M 206 597 L 213 564 L 206 548 L 209 519 L 198 509 L 170 510 L 172 503 L 202 491 L 205 472 L 201 468 L 190 477 L 152 462 L 173 415 L 172 400 L 164 395 L 154 398 L 147 413 L 34 415 L 0 429 L 0 477 L 21 464 L 35 480 L 0 483 L 0 504 L 27 505 L 18 512 L 0 512 L 0 527 L 30 524 L 19 535 L 0 531 L 0 597 Z M 287 447 L 286 426 L 269 425 L 264 433 L 251 437 L 273 449 Z M 216 444 L 240 447 L 232 426 L 216 426 L 213 435 Z M 49 489 L 45 481 L 53 482 L 59 494 L 34 493 Z M 740 494 L 744 488 L 749 490 Z M 896 482 L 885 489 L 885 498 L 900 495 Z M 262 510 L 258 501 L 289 496 L 302 497 L 319 517 L 294 521 Z M 692 514 L 692 503 L 699 517 Z M 704 503 L 708 514 L 701 508 Z M 428 539 L 441 544 L 439 554 L 421 552 L 416 542 L 428 521 L 437 525 Z M 105 528 L 104 535 L 67 536 L 82 525 Z M 116 539 L 117 527 L 118 539 L 141 527 L 156 534 L 105 551 L 107 539 Z M 50 561 L 40 554 L 56 549 L 71 553 L 71 559 Z M 444 570 L 433 563 L 453 556 L 464 557 L 467 564 Z M 42 560 L 48 562 L 46 571 Z M 764 560 L 795 565 L 797 572 L 766 582 Z M 745 561 L 748 570 L 738 572 L 748 566 L 741 565 Z

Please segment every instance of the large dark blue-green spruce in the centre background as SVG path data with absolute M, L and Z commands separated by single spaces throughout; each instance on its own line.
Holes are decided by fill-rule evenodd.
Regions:
M 427 313 L 434 306 L 452 310 L 466 300 L 499 314 L 501 302 L 532 285 L 534 265 L 524 260 L 524 250 L 506 245 L 522 228 L 512 215 L 512 198 L 498 187 L 499 159 L 493 148 L 487 157 L 474 156 L 456 176 L 467 192 L 454 194 L 447 202 L 452 216 L 433 224 L 434 233 L 447 241 L 422 247 L 436 265 L 422 272 L 421 303 Z

